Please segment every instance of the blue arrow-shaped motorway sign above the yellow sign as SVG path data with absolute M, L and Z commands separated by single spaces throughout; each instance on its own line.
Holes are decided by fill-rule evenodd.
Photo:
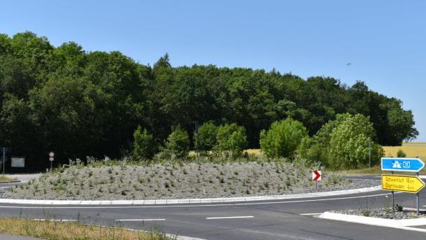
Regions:
M 406 157 L 382 157 L 382 171 L 413 171 L 418 172 L 425 167 L 425 163 L 420 158 Z

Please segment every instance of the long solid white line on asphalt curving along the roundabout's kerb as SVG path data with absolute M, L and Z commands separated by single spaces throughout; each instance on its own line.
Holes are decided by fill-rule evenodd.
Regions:
M 402 192 L 395 192 L 399 194 Z M 323 202 L 332 200 L 345 200 L 345 199 L 358 199 L 365 197 L 380 197 L 391 195 L 391 193 L 382 193 L 377 195 L 362 195 L 355 197 L 334 197 L 325 199 L 307 199 L 307 200 L 296 200 L 296 201 L 277 201 L 277 202 L 250 202 L 242 204 L 185 204 L 185 205 L 172 205 L 172 206 L 0 206 L 0 209 L 158 209 L 158 208 L 182 208 L 182 207 L 204 207 L 204 206 L 247 206 L 247 205 L 264 205 L 264 204 L 291 204 L 298 202 Z M 29 204 L 27 204 L 29 205 Z

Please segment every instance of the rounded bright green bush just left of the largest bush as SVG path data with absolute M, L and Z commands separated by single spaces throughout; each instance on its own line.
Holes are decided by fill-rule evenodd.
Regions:
M 260 132 L 260 148 L 267 157 L 293 157 L 300 142 L 307 136 L 302 122 L 287 118 L 272 122 L 269 130 Z

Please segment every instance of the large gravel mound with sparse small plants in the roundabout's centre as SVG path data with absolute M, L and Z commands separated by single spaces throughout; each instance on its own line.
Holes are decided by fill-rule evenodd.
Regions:
M 15 199 L 184 199 L 325 192 L 380 185 L 323 174 L 318 190 L 311 169 L 288 162 L 228 162 L 72 166 L 43 174 L 16 188 L 0 189 Z

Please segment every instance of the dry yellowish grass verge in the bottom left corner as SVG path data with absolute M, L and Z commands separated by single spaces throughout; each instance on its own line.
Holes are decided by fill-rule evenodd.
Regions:
M 17 218 L 1 218 L 0 233 L 49 240 L 170 240 L 164 234 Z

